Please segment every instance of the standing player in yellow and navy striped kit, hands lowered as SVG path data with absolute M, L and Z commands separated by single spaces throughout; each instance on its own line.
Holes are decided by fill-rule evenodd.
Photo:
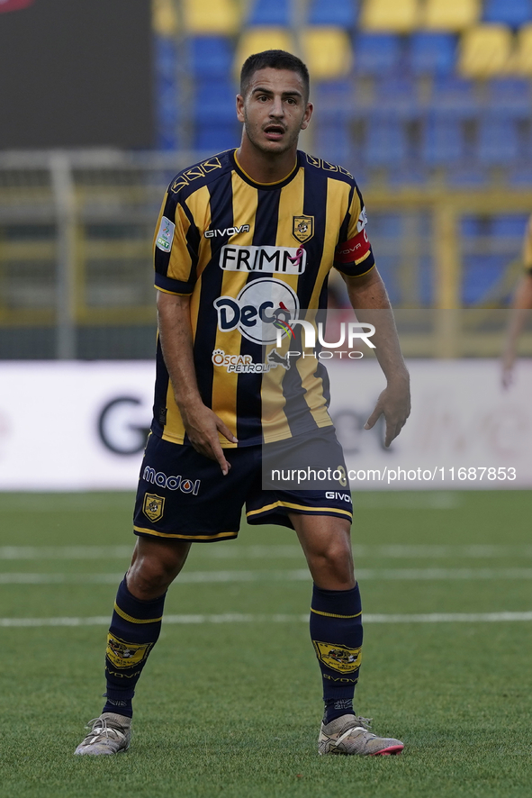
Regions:
M 297 150 L 311 113 L 300 59 L 282 50 L 250 56 L 237 96 L 239 150 L 185 169 L 168 187 L 154 246 L 157 378 L 134 515 L 138 540 L 114 604 L 107 700 L 77 754 L 128 748 L 131 700 L 158 639 L 167 588 L 193 542 L 237 536 L 244 504 L 249 523 L 295 530 L 311 571 L 311 639 L 325 703 L 320 754 L 403 748 L 377 737 L 353 708 L 362 609 L 326 375 L 315 358 L 295 361 L 275 349 L 275 322 L 325 306 L 334 265 L 353 306 L 385 317 L 373 340 L 387 386 L 366 427 L 384 415 L 386 445 L 399 434 L 410 413 L 409 376 L 362 197 L 346 169 Z M 265 490 L 263 444 L 302 451 L 306 462 L 329 460 L 338 490 Z

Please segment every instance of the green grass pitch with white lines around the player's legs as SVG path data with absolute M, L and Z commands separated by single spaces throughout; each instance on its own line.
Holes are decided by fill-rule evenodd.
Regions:
M 311 581 L 293 533 L 246 525 L 193 547 L 170 589 L 130 751 L 72 755 L 103 704 L 131 505 L 0 494 L 2 798 L 530 795 L 531 494 L 356 495 L 356 709 L 407 745 L 383 758 L 318 757 Z

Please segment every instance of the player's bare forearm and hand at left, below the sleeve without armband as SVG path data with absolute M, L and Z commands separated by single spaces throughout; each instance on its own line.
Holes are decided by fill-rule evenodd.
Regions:
M 203 404 L 194 367 L 194 349 L 190 323 L 190 296 L 157 295 L 158 331 L 163 357 L 174 390 L 186 434 L 194 449 L 206 458 L 217 460 L 226 476 L 230 463 L 223 454 L 218 433 L 236 443 L 229 427 L 211 408 Z

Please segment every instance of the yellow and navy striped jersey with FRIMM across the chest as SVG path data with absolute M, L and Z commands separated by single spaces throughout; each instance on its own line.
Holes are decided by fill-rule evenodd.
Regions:
M 297 341 L 277 346 L 278 322 L 326 307 L 333 266 L 349 276 L 373 268 L 365 223 L 349 172 L 301 151 L 277 183 L 256 183 L 228 150 L 168 187 L 154 240 L 155 285 L 191 295 L 199 390 L 239 446 L 331 423 L 325 367 L 313 357 L 288 358 Z M 187 440 L 160 344 L 152 430 Z M 230 446 L 223 437 L 221 444 Z

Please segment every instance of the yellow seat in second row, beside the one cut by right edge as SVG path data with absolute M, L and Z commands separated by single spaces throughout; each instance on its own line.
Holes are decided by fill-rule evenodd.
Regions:
M 462 34 L 458 71 L 464 77 L 491 77 L 506 74 L 510 65 L 513 37 L 506 25 L 486 24 Z

